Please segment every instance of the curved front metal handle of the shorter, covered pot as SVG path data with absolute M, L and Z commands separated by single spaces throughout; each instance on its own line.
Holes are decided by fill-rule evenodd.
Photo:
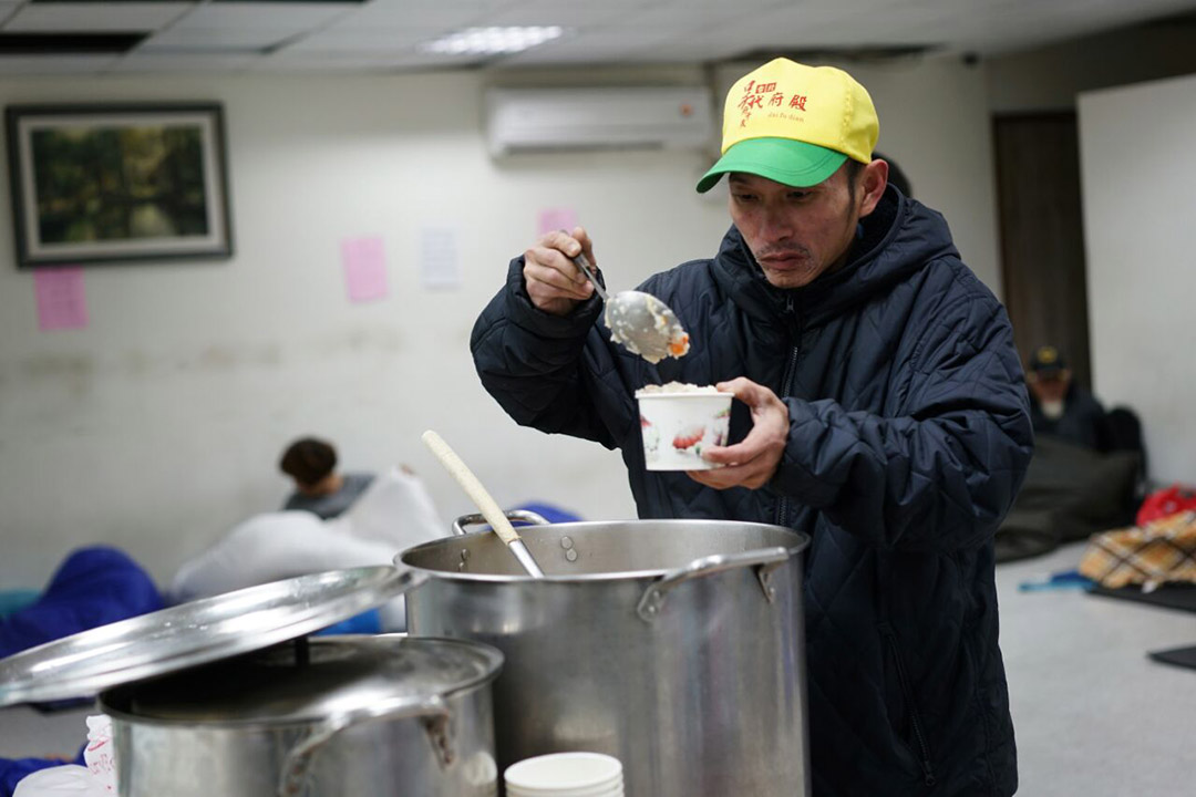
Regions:
M 420 717 L 432 741 L 432 747 L 443 766 L 448 766 L 456 759 L 452 740 L 448 737 L 448 723 L 452 711 L 439 695 L 411 699 L 410 697 L 380 700 L 368 706 L 353 709 L 329 717 L 319 723 L 301 742 L 287 752 L 282 761 L 282 773 L 279 777 L 277 797 L 297 797 L 305 793 L 311 766 L 319 748 L 327 744 L 342 730 L 368 722 L 383 719 L 404 719 Z

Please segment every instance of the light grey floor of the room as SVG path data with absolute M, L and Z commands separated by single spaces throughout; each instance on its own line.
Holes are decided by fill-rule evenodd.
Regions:
M 1196 795 L 1196 670 L 1146 651 L 1196 645 L 1196 614 L 1076 590 L 1023 593 L 1082 545 L 997 569 L 1021 789 L 1027 797 Z M 0 710 L 0 755 L 74 755 L 87 710 Z

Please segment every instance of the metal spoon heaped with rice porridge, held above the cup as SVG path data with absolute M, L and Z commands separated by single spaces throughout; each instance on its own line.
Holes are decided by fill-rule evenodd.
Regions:
M 606 326 L 610 327 L 611 341 L 648 362 L 681 357 L 689 351 L 689 335 L 669 305 L 642 290 L 620 290 L 608 296 L 585 255 L 574 257 L 573 263 L 590 277 L 594 290 L 606 302 Z

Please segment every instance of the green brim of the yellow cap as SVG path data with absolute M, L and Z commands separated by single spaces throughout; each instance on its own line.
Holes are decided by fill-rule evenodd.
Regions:
M 697 182 L 697 192 L 706 194 L 724 174 L 745 172 L 793 188 L 818 185 L 834 174 L 847 155 L 793 139 L 748 139 L 734 145 L 719 163 Z

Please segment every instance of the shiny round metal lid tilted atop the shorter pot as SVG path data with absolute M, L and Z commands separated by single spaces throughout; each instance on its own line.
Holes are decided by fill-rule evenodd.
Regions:
M 376 608 L 426 580 L 386 565 L 334 570 L 91 629 L 0 660 L 0 706 L 92 695 L 269 648 Z

